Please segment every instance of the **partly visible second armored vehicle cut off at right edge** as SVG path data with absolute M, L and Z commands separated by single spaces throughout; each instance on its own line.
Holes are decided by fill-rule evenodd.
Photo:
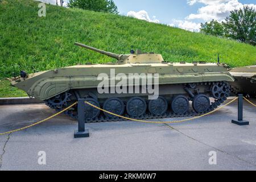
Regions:
M 256 96 L 256 65 L 249 67 L 234 68 L 230 71 L 235 78 L 230 82 L 233 93 L 242 93 L 244 96 Z

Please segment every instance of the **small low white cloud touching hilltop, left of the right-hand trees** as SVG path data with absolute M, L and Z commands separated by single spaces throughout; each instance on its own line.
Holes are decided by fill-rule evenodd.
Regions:
M 169 26 L 182 28 L 184 30 L 188 30 L 188 31 L 192 31 L 192 32 L 199 32 L 199 30 L 201 28 L 201 23 L 194 23 L 194 22 L 189 22 L 187 20 L 173 19 L 172 23 L 169 24 Z

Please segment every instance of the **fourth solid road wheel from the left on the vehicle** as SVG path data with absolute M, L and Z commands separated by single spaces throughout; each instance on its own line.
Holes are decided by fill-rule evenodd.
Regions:
M 154 115 L 163 115 L 168 109 L 168 102 L 164 97 L 158 97 L 156 100 L 150 100 L 148 110 Z

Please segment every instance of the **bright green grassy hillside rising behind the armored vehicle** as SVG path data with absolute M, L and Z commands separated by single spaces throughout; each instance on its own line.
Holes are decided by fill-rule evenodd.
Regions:
M 143 52 L 161 53 L 167 61 L 216 62 L 220 53 L 221 61 L 230 67 L 256 64 L 256 47 L 233 40 L 126 16 L 52 5 L 47 5 L 46 17 L 40 18 L 38 3 L 0 0 L 0 78 L 20 70 L 31 73 L 113 61 L 76 47 L 74 42 L 115 53 L 129 53 L 133 46 Z

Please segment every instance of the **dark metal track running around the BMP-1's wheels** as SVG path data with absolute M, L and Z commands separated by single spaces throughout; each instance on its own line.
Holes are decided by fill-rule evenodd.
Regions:
M 214 85 L 216 83 L 221 83 L 221 84 L 225 83 L 226 84 L 226 82 L 201 82 L 201 83 L 196 83 L 196 85 L 210 85 L 211 86 L 211 85 Z M 180 84 L 180 85 L 183 85 L 183 84 Z M 65 107 L 68 107 L 68 106 L 72 105 L 75 102 L 75 101 L 69 100 L 69 96 L 70 96 L 70 93 L 67 93 L 67 94 L 61 96 L 62 99 L 64 99 L 64 101 L 61 102 L 61 104 L 59 104 L 57 102 L 56 105 L 55 105 L 55 104 L 52 104 L 52 102 L 50 102 L 49 100 L 47 100 L 45 102 L 46 102 L 46 105 L 48 105 L 52 109 L 55 109 L 56 111 L 60 111 L 60 110 L 64 109 Z M 203 115 L 203 114 L 209 113 L 210 111 L 215 110 L 224 101 L 226 101 L 229 96 L 230 96 L 230 86 L 228 85 L 228 89 L 225 90 L 225 94 L 220 99 L 216 99 L 213 102 L 211 102 L 208 110 L 204 111 L 202 113 L 197 113 L 195 110 L 189 109 L 189 111 L 187 111 L 185 114 L 175 114 L 173 111 L 171 111 L 171 109 L 168 109 L 167 112 L 162 114 L 162 115 L 153 115 L 147 109 L 146 113 L 141 115 L 141 117 L 134 118 L 134 117 L 131 117 L 128 114 L 123 114 L 123 115 L 125 117 L 134 118 L 134 119 L 141 119 L 141 120 L 163 119 L 163 118 L 179 118 L 179 117 L 195 117 L 195 116 Z M 60 99 L 61 97 L 57 97 L 57 98 Z M 76 108 L 72 108 L 71 110 L 66 111 L 65 114 L 69 115 L 72 118 L 77 119 Z M 118 118 L 118 117 L 109 118 L 104 113 L 101 113 L 95 119 L 86 119 L 85 122 L 86 123 L 96 123 L 96 122 L 116 122 L 116 121 L 127 121 L 127 119 Z

